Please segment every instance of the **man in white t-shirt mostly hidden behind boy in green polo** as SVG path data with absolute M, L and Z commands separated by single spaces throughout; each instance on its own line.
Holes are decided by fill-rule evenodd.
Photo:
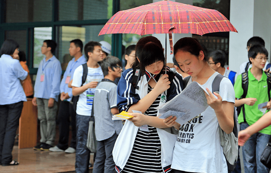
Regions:
M 260 45 L 262 45 L 262 46 L 265 46 L 265 42 L 264 42 L 264 40 L 263 40 L 262 38 L 257 37 L 257 36 L 251 37 L 251 38 L 247 41 L 247 52 L 249 51 L 250 47 L 252 47 L 252 46 L 254 46 L 254 45 L 257 45 L 257 44 L 260 44 Z M 268 65 L 268 64 L 269 64 L 269 62 L 266 61 L 263 70 L 266 71 L 266 70 L 268 70 L 268 69 L 270 68 L 270 65 Z M 267 65 L 268 65 L 268 66 L 267 66 Z M 246 72 L 246 71 L 247 71 L 248 69 L 250 69 L 251 67 L 252 67 L 252 64 L 251 64 L 250 61 L 246 61 L 246 62 L 242 63 L 242 64 L 240 65 L 239 74 L 242 74 L 242 73 Z M 266 68 L 266 67 L 267 67 L 267 68 Z M 271 70 L 271 69 L 269 69 L 269 71 L 270 71 L 270 70 Z

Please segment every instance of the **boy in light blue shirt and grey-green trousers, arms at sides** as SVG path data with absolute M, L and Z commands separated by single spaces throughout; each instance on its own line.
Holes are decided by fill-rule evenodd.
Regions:
M 32 103 L 37 106 L 40 120 L 40 144 L 34 150 L 48 151 L 56 137 L 56 111 L 60 93 L 60 76 L 62 73 L 58 59 L 53 55 L 56 42 L 44 40 L 41 53 L 46 57 L 41 60 L 34 86 Z

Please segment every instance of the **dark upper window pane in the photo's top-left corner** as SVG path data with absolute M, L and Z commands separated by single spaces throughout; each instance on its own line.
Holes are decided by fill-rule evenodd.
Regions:
M 52 21 L 52 1 L 6 0 L 6 22 Z

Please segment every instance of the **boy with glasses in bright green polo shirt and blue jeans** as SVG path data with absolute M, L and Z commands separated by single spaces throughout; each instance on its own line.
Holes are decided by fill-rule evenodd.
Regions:
M 252 67 L 248 70 L 248 88 L 245 98 L 240 99 L 244 93 L 242 88 L 242 74 L 237 76 L 234 84 L 236 97 L 234 106 L 244 104 L 242 109 L 244 108 L 245 115 L 243 115 L 243 110 L 241 109 L 238 116 L 240 130 L 246 129 L 263 116 L 263 113 L 258 109 L 258 104 L 267 102 L 267 106 L 265 107 L 267 109 L 271 107 L 271 102 L 269 102 L 268 98 L 267 76 L 263 71 L 267 56 L 268 52 L 266 48 L 261 45 L 255 45 L 248 51 L 248 57 Z M 239 100 L 237 100 L 237 98 Z M 267 111 L 268 110 L 266 110 L 266 112 Z M 271 126 L 268 126 L 258 133 L 251 135 L 244 144 L 242 150 L 245 173 L 269 173 L 270 170 L 260 162 L 260 155 L 263 153 L 263 149 L 269 141 L 270 134 Z

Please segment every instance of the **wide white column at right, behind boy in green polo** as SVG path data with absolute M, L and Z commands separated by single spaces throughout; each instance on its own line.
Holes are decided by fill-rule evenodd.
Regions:
M 259 36 L 265 41 L 270 57 L 271 1 L 231 0 L 230 22 L 238 33 L 230 32 L 229 67 L 239 73 L 240 64 L 248 61 L 247 41 Z M 270 62 L 270 60 L 269 60 Z

